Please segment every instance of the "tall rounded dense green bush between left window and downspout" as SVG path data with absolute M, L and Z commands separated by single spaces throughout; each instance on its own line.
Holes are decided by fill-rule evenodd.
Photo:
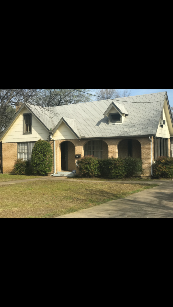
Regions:
M 31 165 L 34 173 L 46 176 L 51 172 L 53 166 L 53 152 L 49 142 L 42 139 L 35 142 L 32 155 Z

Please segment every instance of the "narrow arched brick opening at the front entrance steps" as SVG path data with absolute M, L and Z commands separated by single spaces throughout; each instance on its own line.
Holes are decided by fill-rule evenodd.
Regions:
M 75 169 L 75 146 L 70 141 L 60 144 L 61 150 L 61 171 L 72 171 Z

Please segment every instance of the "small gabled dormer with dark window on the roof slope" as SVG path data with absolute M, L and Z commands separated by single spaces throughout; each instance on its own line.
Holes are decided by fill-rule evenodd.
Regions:
M 123 104 L 114 103 L 113 101 L 104 113 L 109 119 L 109 125 L 116 125 L 123 123 L 125 117 L 129 115 Z

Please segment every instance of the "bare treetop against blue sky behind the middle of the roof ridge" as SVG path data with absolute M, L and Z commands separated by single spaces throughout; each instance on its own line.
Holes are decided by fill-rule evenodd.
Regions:
M 119 97 L 130 96 L 130 94 L 131 91 L 123 90 L 121 93 L 121 91 L 116 88 L 99 88 L 98 91 L 96 91 L 96 95 L 100 96 L 97 100 L 116 99 Z

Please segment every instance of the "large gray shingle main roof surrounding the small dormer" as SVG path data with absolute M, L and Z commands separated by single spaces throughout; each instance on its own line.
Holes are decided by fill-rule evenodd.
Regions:
M 63 117 L 77 135 L 86 138 L 151 135 L 156 134 L 165 95 L 166 92 L 160 92 L 44 109 L 30 104 L 28 107 L 48 129 L 53 129 Z M 112 101 L 119 104 L 122 112 L 129 113 L 123 123 L 108 125 L 103 114 Z

